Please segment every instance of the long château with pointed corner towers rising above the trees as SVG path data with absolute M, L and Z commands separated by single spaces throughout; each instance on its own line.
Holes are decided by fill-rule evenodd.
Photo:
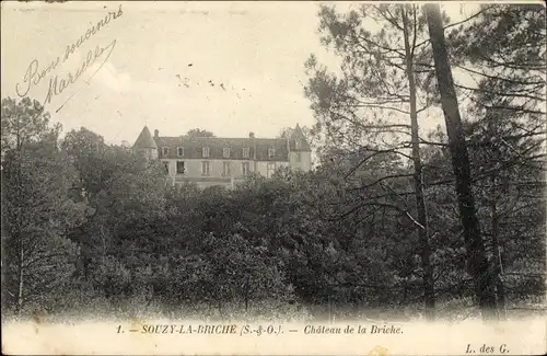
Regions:
M 310 171 L 312 150 L 302 129 L 296 127 L 286 138 L 220 138 L 151 135 L 144 126 L 135 141 L 136 154 L 158 159 L 173 184 L 196 183 L 199 187 L 233 187 L 252 172 L 270 177 L 282 166 Z

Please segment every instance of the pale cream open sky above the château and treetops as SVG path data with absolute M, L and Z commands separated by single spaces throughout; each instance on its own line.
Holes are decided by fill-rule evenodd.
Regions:
M 161 136 L 199 127 L 221 137 L 249 131 L 276 137 L 284 127 L 314 124 L 303 92 L 309 56 L 329 68 L 338 64 L 319 44 L 318 7 L 312 1 L 2 2 L 2 97 L 27 90 L 63 133 L 83 126 L 110 143 L 132 145 L 144 125 Z M 465 14 L 458 3 L 443 8 L 454 21 Z M 88 32 L 108 12 L 116 18 Z M 67 46 L 82 36 L 65 60 Z M 36 84 L 30 84 L 32 72 Z

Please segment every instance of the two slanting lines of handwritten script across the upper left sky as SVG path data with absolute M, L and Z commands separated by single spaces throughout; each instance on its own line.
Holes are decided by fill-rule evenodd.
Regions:
M 93 35 L 95 35 L 97 32 L 100 32 L 103 27 L 105 27 L 110 21 L 114 21 L 121 16 L 124 12 L 121 11 L 121 5 L 119 5 L 119 9 L 117 12 L 108 12 L 104 19 L 101 19 L 95 25 L 92 25 L 91 27 L 85 31 L 85 34 L 81 35 L 77 42 L 67 45 L 67 48 L 65 50 L 65 56 L 57 56 L 57 59 L 48 64 L 46 67 L 40 68 L 39 61 L 37 59 L 34 59 L 31 61 L 28 65 L 25 74 L 23 77 L 23 82 L 18 83 L 15 85 L 15 91 L 19 96 L 26 96 L 31 89 L 33 87 L 37 87 L 43 80 L 53 74 L 54 70 L 59 66 L 66 62 L 71 55 L 74 54 L 74 51 L 80 48 L 86 41 L 89 41 Z M 89 80 L 86 81 L 88 85 L 90 80 L 101 70 L 101 68 L 104 66 L 104 64 L 108 60 L 110 57 L 114 47 L 116 46 L 116 39 L 110 42 L 107 46 L 103 47 L 101 45 L 97 45 L 94 50 L 89 49 L 88 54 L 85 56 L 85 59 L 83 62 L 80 65 L 78 70 L 75 72 L 68 72 L 66 76 L 62 76 L 59 78 L 59 74 L 55 74 L 55 77 L 49 78 L 49 87 L 48 91 L 46 94 L 46 99 L 44 100 L 44 106 L 45 104 L 49 104 L 51 100 L 62 93 L 68 87 L 73 84 L 74 82 L 78 81 L 78 79 L 95 62 L 98 62 L 97 69 L 91 74 Z M 106 54 L 106 55 L 104 55 Z M 72 93 L 63 103 L 62 105 L 59 106 L 59 108 L 56 110 L 56 112 L 59 112 L 59 110 L 65 106 L 65 104 L 77 92 Z

